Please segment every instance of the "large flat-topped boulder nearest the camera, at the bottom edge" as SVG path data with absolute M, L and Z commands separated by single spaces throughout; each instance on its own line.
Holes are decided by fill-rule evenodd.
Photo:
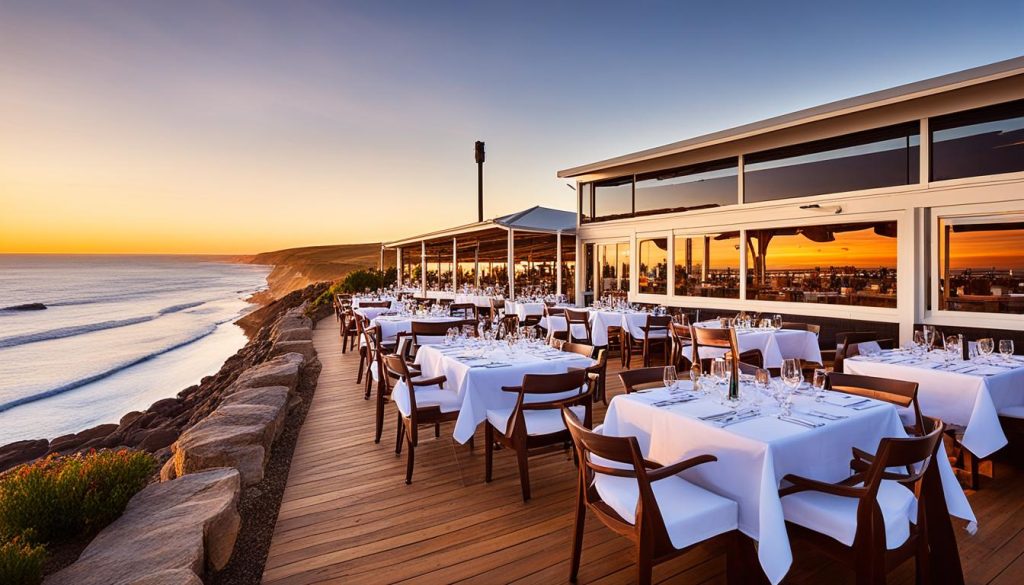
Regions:
M 135 494 L 124 514 L 45 585 L 199 584 L 230 559 L 241 519 L 239 472 L 210 469 Z

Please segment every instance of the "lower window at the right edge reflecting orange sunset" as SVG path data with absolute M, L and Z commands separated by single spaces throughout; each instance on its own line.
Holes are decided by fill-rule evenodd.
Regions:
M 939 222 L 939 307 L 1024 315 L 1024 222 Z

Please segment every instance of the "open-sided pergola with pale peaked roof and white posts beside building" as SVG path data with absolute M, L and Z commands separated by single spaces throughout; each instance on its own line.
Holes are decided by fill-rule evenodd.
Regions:
M 517 287 L 572 296 L 575 227 L 575 213 L 536 206 L 387 242 L 381 254 L 394 250 L 398 285 L 417 283 L 423 296 L 463 285 L 492 288 L 508 298 L 515 298 Z

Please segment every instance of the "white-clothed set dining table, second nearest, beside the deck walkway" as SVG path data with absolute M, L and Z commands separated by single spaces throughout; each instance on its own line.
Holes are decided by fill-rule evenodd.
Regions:
M 589 368 L 595 362 L 543 343 L 474 341 L 423 345 L 416 353 L 416 364 L 426 377 L 444 376 L 445 388 L 458 392 L 462 407 L 453 436 L 466 443 L 487 420 L 488 410 L 515 406 L 517 394 L 502 390 L 503 386 L 522 384 L 526 374 L 563 374 L 570 368 Z M 526 396 L 527 402 L 534 400 Z

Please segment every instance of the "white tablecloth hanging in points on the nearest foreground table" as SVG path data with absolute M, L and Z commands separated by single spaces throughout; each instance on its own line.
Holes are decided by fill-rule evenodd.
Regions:
M 688 469 L 682 476 L 739 505 L 739 530 L 759 541 L 758 558 L 772 583 L 781 581 L 793 563 L 778 497 L 782 476 L 795 473 L 839 482 L 850 475 L 853 447 L 874 453 L 883 437 L 906 436 L 891 405 L 855 411 L 798 396 L 795 412 L 813 408 L 849 418 L 807 428 L 767 416 L 720 428 L 697 419 L 725 411 L 717 400 L 668 408 L 651 406 L 666 398 L 664 389 L 615 396 L 608 405 L 603 432 L 636 436 L 645 456 L 664 465 L 702 454 L 718 457 L 718 461 Z M 939 457 L 938 462 L 950 513 L 975 521 L 949 462 L 945 457 Z

